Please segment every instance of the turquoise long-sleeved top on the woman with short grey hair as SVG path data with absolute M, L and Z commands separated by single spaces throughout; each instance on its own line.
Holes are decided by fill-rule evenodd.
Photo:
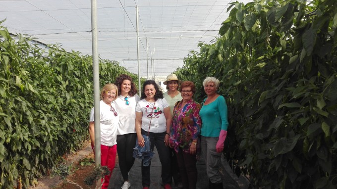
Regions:
M 227 131 L 227 104 L 224 96 L 220 95 L 213 102 L 204 104 L 199 114 L 202 120 L 201 136 L 219 137 L 221 130 Z

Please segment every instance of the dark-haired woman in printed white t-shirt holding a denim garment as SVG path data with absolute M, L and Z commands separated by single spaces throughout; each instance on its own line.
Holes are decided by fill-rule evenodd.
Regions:
M 150 125 L 151 122 L 151 125 Z M 142 135 L 149 136 L 151 149 L 156 146 L 162 164 L 162 181 L 165 189 L 171 189 L 171 170 L 169 156 L 169 133 L 171 125 L 171 113 L 169 104 L 153 80 L 145 81 L 136 107 L 135 127 L 138 144 L 143 147 L 145 141 Z M 143 189 L 150 187 L 150 167 L 142 162 Z

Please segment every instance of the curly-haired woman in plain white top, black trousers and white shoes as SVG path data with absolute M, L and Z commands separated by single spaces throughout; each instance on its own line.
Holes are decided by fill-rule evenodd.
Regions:
M 116 78 L 114 84 L 118 87 L 120 94 L 114 102 L 119 116 L 117 153 L 120 172 L 124 180 L 121 189 L 128 189 L 131 186 L 128 173 L 135 162 L 132 154 L 137 139 L 135 118 L 136 105 L 140 97 L 130 76 L 121 74 Z

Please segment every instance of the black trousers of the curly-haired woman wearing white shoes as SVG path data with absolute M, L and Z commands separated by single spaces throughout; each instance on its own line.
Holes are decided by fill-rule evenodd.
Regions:
M 129 180 L 129 171 L 135 162 L 135 158 L 132 157 L 132 154 L 136 139 L 136 133 L 117 135 L 118 163 L 124 181 Z

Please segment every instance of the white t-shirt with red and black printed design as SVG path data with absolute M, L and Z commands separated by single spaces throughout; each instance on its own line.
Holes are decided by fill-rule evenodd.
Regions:
M 155 103 L 155 106 L 154 106 Z M 153 108 L 154 107 L 154 108 Z M 166 132 L 166 118 L 164 115 L 164 108 L 169 107 L 168 101 L 165 98 L 159 98 L 156 102 L 148 102 L 145 99 L 139 100 L 136 112 L 142 112 L 142 129 L 149 131 L 150 120 L 150 132 L 163 133 Z M 153 113 L 152 113 L 153 109 Z

